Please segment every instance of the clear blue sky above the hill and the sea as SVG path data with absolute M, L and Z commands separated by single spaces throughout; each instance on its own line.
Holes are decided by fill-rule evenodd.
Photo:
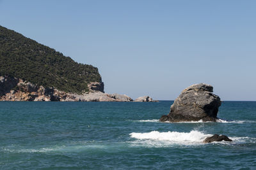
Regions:
M 0 0 L 0 25 L 99 68 L 105 91 L 256 100 L 256 1 Z

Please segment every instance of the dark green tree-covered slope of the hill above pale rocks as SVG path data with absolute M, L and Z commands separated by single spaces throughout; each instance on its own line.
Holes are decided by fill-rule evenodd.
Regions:
M 0 26 L 0 76 L 13 76 L 65 92 L 87 91 L 101 82 L 97 67 L 79 64 L 62 53 Z

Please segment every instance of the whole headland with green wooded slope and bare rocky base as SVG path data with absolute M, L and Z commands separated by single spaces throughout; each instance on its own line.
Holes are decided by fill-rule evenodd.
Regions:
M 0 44 L 0 101 L 133 101 L 104 93 L 97 67 L 1 25 Z

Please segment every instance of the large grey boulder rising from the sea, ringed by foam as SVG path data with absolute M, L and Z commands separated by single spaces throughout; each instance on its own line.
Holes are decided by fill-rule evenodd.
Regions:
M 212 94 L 212 86 L 204 83 L 191 85 L 175 99 L 170 113 L 161 122 L 187 122 L 203 120 L 216 122 L 220 97 Z

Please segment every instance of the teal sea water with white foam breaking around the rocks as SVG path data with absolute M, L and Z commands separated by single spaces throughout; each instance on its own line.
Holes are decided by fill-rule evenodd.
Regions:
M 172 103 L 1 102 L 0 169 L 256 169 L 256 102 L 158 122 Z M 212 134 L 234 141 L 202 143 Z

